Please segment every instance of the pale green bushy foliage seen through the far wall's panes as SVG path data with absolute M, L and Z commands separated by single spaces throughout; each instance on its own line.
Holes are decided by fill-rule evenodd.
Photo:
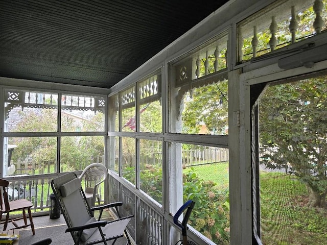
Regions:
M 97 113 L 91 119 L 83 119 L 84 131 L 103 131 L 103 113 Z M 56 132 L 57 111 L 54 109 L 30 109 L 20 112 L 20 120 L 14 132 Z M 63 114 L 61 127 L 65 132 L 74 132 L 76 123 L 74 117 Z M 10 143 L 16 144 L 12 161 L 31 159 L 36 166 L 55 164 L 57 159 L 56 137 L 17 137 L 10 138 Z M 93 161 L 91 157 L 104 154 L 103 136 L 61 137 L 60 164 L 64 170 L 80 170 L 86 163 Z

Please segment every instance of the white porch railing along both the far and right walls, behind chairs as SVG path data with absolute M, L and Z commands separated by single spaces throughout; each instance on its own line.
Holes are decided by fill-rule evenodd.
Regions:
M 12 199 L 28 199 L 33 203 L 33 216 L 48 215 L 51 205 L 50 194 L 51 180 L 60 176 L 60 174 L 45 174 L 45 175 L 17 175 L 5 177 L 10 182 L 8 189 L 9 198 Z M 77 175 L 81 171 L 76 172 Z M 146 197 L 146 195 L 130 184 L 125 184 L 120 177 L 115 174 L 108 175 L 108 191 L 104 193 L 104 199 L 107 202 L 122 201 L 123 206 L 120 209 L 121 215 L 126 216 L 134 214 L 134 218 L 128 225 L 128 231 L 139 245 L 162 245 L 169 242 L 168 234 L 164 234 L 164 227 L 169 228 L 174 226 L 171 215 L 167 218 L 162 211 L 162 207 Z M 106 196 L 106 194 L 108 194 Z M 167 230 L 167 229 L 165 229 Z M 190 239 L 198 244 L 213 245 L 199 234 L 188 234 Z M 202 240 L 202 239 L 205 239 Z

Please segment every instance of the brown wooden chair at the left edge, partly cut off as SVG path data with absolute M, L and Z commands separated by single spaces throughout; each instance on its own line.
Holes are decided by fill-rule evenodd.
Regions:
M 26 199 L 18 199 L 18 200 L 14 200 L 14 201 L 9 202 L 8 193 L 7 193 L 8 186 L 9 186 L 9 181 L 8 180 L 0 179 L 0 194 L 1 194 L 1 198 L 0 198 L 0 218 L 2 217 L 3 213 L 7 213 L 5 224 L 4 224 L 4 231 L 7 230 L 10 212 L 21 210 L 22 211 L 22 216 L 24 218 L 25 226 L 19 227 L 16 223 L 13 222 L 14 226 L 16 228 L 31 226 L 33 235 L 35 235 L 33 217 L 32 217 L 32 214 L 31 214 L 31 207 L 33 206 L 33 204 L 30 201 L 26 200 Z M 12 199 L 14 199 L 14 197 Z M 27 211 L 29 213 L 30 224 L 27 224 L 26 211 L 25 211 L 26 209 L 27 209 Z

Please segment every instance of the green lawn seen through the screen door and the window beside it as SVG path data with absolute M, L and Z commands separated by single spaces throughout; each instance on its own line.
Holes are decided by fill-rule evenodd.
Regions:
M 218 183 L 217 188 L 228 187 L 228 162 L 193 168 L 200 179 Z M 309 193 L 298 178 L 262 172 L 260 191 L 263 244 L 327 244 L 327 209 L 307 207 Z

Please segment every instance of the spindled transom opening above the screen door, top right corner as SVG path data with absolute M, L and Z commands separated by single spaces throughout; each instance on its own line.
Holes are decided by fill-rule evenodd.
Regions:
M 241 43 L 239 61 L 247 61 L 312 37 L 318 33 L 315 28 L 319 26 L 317 25 L 320 21 L 317 21 L 319 17 L 321 18 L 320 31 L 325 30 L 326 1 L 319 1 L 321 7 L 317 3 L 313 0 L 274 1 L 266 8 L 242 20 L 238 23 L 238 38 Z M 318 18 L 316 18 L 316 11 L 319 11 Z

